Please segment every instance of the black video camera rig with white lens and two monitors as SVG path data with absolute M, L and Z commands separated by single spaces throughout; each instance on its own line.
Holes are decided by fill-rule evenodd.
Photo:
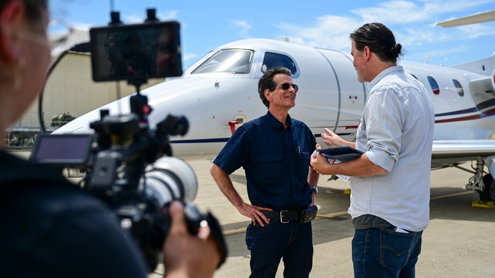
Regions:
M 191 203 L 196 175 L 185 161 L 172 157 L 169 145 L 168 136 L 185 135 L 189 123 L 183 116 L 168 115 L 151 129 L 148 116 L 153 109 L 139 92 L 149 78 L 182 75 L 179 23 L 160 22 L 154 10 L 148 10 L 143 24 L 124 25 L 114 12 L 111 17 L 109 26 L 90 30 L 93 79 L 128 80 L 136 86 L 131 113 L 110 116 L 101 110 L 101 119 L 90 123 L 95 131 L 90 135 L 42 134 L 30 161 L 60 170 L 83 169 L 82 188 L 110 204 L 122 229 L 139 243 L 150 271 L 160 261 L 170 226 L 167 209 L 176 199 L 185 204 L 189 232 L 196 234 L 202 222 L 210 226 L 222 264 L 227 251 L 220 225 Z

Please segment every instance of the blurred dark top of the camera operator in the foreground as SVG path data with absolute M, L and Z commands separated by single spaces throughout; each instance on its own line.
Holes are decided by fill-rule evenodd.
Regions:
M 0 277 L 146 277 L 105 203 L 0 151 Z

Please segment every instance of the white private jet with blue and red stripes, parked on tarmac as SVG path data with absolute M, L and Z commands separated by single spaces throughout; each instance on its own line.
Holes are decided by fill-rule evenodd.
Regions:
M 435 105 L 432 169 L 456 167 L 473 173 L 466 189 L 479 192 L 481 200 L 494 201 L 495 56 L 452 67 L 399 64 L 425 85 Z M 171 137 L 173 155 L 213 158 L 236 128 L 266 114 L 258 80 L 267 69 L 278 66 L 289 68 L 300 88 L 291 117 L 305 122 L 318 143 L 323 143 L 320 135 L 325 128 L 355 140 L 369 92 L 367 84 L 357 81 L 352 56 L 268 39 L 220 46 L 182 76 L 143 90 L 153 107 L 149 124 L 153 127 L 168 114 L 184 115 L 189 131 L 183 137 Z M 108 109 L 110 115 L 130 113 L 129 96 L 78 117 L 54 134 L 93 133 L 89 123 L 100 119 L 101 109 Z M 472 169 L 460 166 L 469 161 Z

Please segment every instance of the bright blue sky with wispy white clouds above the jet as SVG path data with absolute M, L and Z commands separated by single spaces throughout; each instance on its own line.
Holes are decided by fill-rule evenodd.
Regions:
M 349 34 L 381 22 L 405 49 L 404 60 L 452 66 L 490 57 L 495 21 L 443 28 L 437 22 L 495 10 L 495 0 L 49 0 L 49 33 L 89 30 L 120 13 L 125 24 L 155 8 L 162 21 L 180 23 L 183 68 L 238 40 L 263 38 L 349 52 Z M 494 18 L 495 20 L 495 18 Z

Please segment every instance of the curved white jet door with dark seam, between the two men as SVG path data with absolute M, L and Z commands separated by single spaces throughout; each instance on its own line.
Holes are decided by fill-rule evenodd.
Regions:
M 351 56 L 335 50 L 318 50 L 329 61 L 337 79 L 339 103 L 333 132 L 347 141 L 354 141 L 366 101 L 365 84 L 357 81 Z

